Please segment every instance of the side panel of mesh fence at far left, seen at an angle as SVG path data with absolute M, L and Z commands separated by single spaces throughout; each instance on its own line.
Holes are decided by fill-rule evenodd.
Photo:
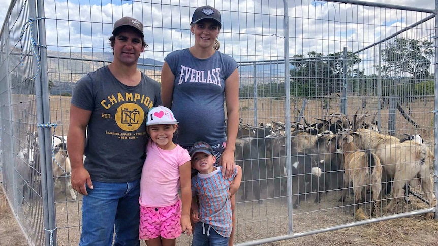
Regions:
M 14 1 L 2 40 L 2 177 L 14 213 L 34 245 L 45 244 L 41 167 L 38 146 L 28 133 L 36 131 L 37 110 L 32 21 L 35 2 Z M 39 82 L 37 82 L 39 83 Z

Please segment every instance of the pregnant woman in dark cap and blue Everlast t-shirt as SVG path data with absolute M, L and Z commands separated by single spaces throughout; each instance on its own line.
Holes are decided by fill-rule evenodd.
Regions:
M 190 148 L 197 141 L 213 147 L 216 165 L 224 177 L 234 171 L 234 149 L 239 124 L 239 74 L 237 62 L 217 51 L 221 14 L 211 6 L 198 7 L 190 30 L 195 44 L 177 50 L 164 59 L 161 73 L 162 101 L 179 121 L 174 142 Z M 227 110 L 225 124 L 224 96 Z M 233 245 L 235 199 L 232 197 Z

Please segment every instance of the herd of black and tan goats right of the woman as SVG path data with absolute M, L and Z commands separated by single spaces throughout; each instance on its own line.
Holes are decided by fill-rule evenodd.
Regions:
M 382 208 L 383 212 L 392 213 L 401 197 L 410 203 L 409 189 L 419 184 L 426 203 L 430 207 L 436 205 L 430 175 L 434 154 L 421 136 L 403 134 L 406 137 L 400 139 L 381 134 L 375 122 L 365 120 L 366 116 L 356 112 L 350 121 L 345 114 L 333 113 L 328 120 L 317 119 L 318 123 L 308 124 L 305 119 L 305 125 L 293 123 L 291 174 L 298 186 L 293 208 L 311 192 L 316 194 L 315 202 L 320 202 L 321 194 L 330 190 L 331 173 L 340 173 L 340 177 L 343 174 L 339 202 L 345 200 L 349 187 L 353 187 L 356 220 L 368 218 L 360 207 L 368 193 L 371 215 L 380 207 L 381 194 L 389 194 L 392 189 L 392 198 Z M 285 129 L 281 122 L 240 124 L 235 158 L 243 170 L 243 200 L 247 200 L 252 188 L 254 198 L 262 202 L 261 189 L 267 188 L 269 182 L 274 183 L 274 196 L 287 191 Z

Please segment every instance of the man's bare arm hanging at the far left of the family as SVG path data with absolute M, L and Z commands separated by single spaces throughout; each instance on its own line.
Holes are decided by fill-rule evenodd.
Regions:
M 90 174 L 84 168 L 85 131 L 92 111 L 71 104 L 67 148 L 72 165 L 72 187 L 82 195 L 88 195 L 85 183 L 93 189 Z

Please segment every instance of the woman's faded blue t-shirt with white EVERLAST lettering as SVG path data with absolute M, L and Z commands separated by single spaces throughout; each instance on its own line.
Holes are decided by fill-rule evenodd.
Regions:
M 225 80 L 237 62 L 219 51 L 198 59 L 189 49 L 174 51 L 164 60 L 175 75 L 171 109 L 179 124 L 174 141 L 181 146 L 199 140 L 210 145 L 225 142 Z

